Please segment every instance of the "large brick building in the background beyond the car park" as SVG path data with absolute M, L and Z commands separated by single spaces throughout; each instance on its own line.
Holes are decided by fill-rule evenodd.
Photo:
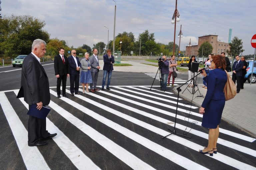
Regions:
M 225 52 L 229 50 L 229 44 L 225 42 L 220 42 L 218 40 L 218 35 L 204 35 L 201 37 L 198 37 L 198 45 L 191 45 L 191 46 L 186 46 L 186 56 L 197 56 L 198 55 L 198 49 L 202 45 L 203 42 L 209 42 L 212 47 L 212 54 L 220 54 L 221 52 Z M 202 55 L 202 54 L 201 54 Z M 199 54 L 199 57 L 201 56 Z

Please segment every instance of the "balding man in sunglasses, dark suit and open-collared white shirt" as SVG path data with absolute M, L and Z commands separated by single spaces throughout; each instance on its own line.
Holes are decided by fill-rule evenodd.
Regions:
M 74 96 L 74 92 L 75 92 L 75 94 L 82 95 L 82 93 L 78 92 L 81 63 L 79 61 L 79 58 L 76 56 L 76 50 L 71 51 L 71 56 L 68 57 L 68 64 L 69 64 L 69 69 L 70 69 L 71 96 Z M 75 84 L 75 89 L 74 89 L 74 84 Z

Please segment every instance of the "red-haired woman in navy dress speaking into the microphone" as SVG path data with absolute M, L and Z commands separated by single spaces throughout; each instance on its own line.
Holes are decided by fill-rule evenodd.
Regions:
M 221 55 L 212 56 L 211 68 L 213 69 L 207 76 L 203 70 L 202 75 L 207 84 L 207 93 L 199 113 L 203 114 L 202 126 L 209 128 L 208 146 L 199 150 L 202 154 L 217 153 L 217 140 L 219 137 L 219 124 L 222 111 L 225 106 L 224 86 L 227 82 L 225 72 L 226 61 Z

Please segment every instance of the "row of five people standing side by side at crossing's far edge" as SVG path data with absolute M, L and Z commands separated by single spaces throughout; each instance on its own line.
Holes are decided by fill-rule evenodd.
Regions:
M 89 53 L 86 52 L 84 58 L 79 61 L 79 58 L 76 56 L 76 50 L 71 51 L 71 55 L 67 58 L 64 53 L 64 48 L 60 48 L 59 54 L 54 57 L 54 70 L 57 77 L 57 97 L 60 98 L 60 85 L 62 82 L 62 96 L 68 97 L 66 95 L 66 81 L 67 77 L 70 77 L 70 93 L 71 96 L 74 94 L 82 95 L 79 92 L 79 80 L 82 83 L 83 93 L 90 93 L 99 91 L 97 88 L 97 80 L 99 69 L 98 50 L 93 49 L 93 55 L 89 57 Z M 102 88 L 106 83 L 106 77 L 108 75 L 108 82 L 106 89 L 110 90 L 109 85 L 111 81 L 111 75 L 113 71 L 113 63 L 115 62 L 114 56 L 111 55 L 111 50 L 107 50 L 107 54 L 103 56 L 103 80 Z M 81 74 L 80 74 L 81 71 Z M 80 77 L 80 78 L 79 78 Z M 90 84 L 90 91 L 89 91 Z

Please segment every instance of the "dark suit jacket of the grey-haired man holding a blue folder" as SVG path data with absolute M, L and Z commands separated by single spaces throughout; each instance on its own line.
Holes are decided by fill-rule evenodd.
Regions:
M 17 98 L 21 97 L 24 97 L 24 101 L 29 105 L 42 102 L 45 106 L 50 103 L 48 77 L 32 53 L 22 63 L 21 88 Z

